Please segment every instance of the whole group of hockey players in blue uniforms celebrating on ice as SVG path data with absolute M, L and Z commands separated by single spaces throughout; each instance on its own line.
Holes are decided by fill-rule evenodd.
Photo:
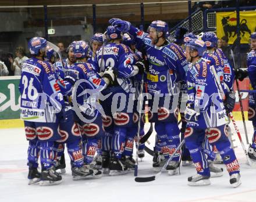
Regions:
M 73 41 L 62 61 L 56 61 L 56 48 L 44 38 L 29 41 L 32 57 L 22 64 L 19 85 L 21 118 L 29 140 L 29 184 L 61 183 L 65 147 L 74 180 L 126 174 L 135 166 L 138 126 L 141 138 L 148 119 L 157 133 L 154 171 L 185 139 L 186 146 L 166 167 L 169 175 L 177 174 L 181 159 L 183 166 L 194 163 L 197 171 L 188 178 L 189 185 L 209 185 L 210 176 L 223 175 L 223 169 L 213 164 L 221 161 L 230 184 L 239 186 L 240 167 L 228 125 L 235 103 L 234 70 L 216 48 L 216 35 L 182 34 L 179 28 L 175 42 L 170 42 L 168 24 L 161 20 L 152 21 L 147 33 L 128 21 L 109 23 L 106 32 L 94 34 L 90 44 Z M 248 71 L 254 88 L 256 33 L 251 34 L 251 49 Z M 246 72 L 237 70 L 236 75 L 242 80 Z M 254 100 L 252 94 L 253 115 Z M 250 118 L 256 127 L 255 117 Z M 255 137 L 248 151 L 253 160 Z M 143 158 L 144 144 L 138 145 L 138 157 Z

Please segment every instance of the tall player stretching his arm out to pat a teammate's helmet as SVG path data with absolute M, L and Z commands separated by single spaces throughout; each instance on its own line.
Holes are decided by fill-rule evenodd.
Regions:
M 180 143 L 177 125 L 177 100 L 179 99 L 179 89 L 177 82 L 186 80 L 186 70 L 188 63 L 182 48 L 176 44 L 169 44 L 166 40 L 169 36 L 168 24 L 165 21 L 152 21 L 148 30 L 144 33 L 138 28 L 131 26 L 128 21 L 111 19 L 109 22 L 117 29 L 128 32 L 138 46 L 144 46 L 149 64 L 147 72 L 148 93 L 152 98 L 149 100 L 151 111 L 148 115 L 150 122 L 155 122 L 158 142 L 155 146 L 157 155 L 153 159 L 153 168 L 158 171 L 165 163 L 164 159 L 169 158 L 177 145 Z M 164 96 L 159 96 L 163 93 Z M 160 97 L 160 98 L 159 98 Z M 177 98 L 177 99 L 176 99 Z M 158 106 L 153 106 L 154 100 L 158 100 Z M 169 99 L 172 104 L 171 109 L 165 106 L 165 99 Z M 164 158 L 162 158 L 163 153 Z M 180 152 L 176 154 L 168 167 L 169 175 L 177 173 L 179 167 Z

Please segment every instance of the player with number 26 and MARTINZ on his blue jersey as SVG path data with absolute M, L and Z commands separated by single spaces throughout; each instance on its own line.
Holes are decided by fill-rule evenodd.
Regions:
M 22 95 L 21 118 L 29 140 L 29 184 L 40 181 L 40 185 L 55 185 L 62 181 L 55 172 L 53 148 L 55 141 L 61 139 L 58 126 L 63 120 L 61 108 L 64 102 L 54 67 L 44 61 L 47 41 L 34 37 L 28 46 L 32 57 L 22 65 L 19 91 Z M 37 170 L 39 153 L 41 174 Z

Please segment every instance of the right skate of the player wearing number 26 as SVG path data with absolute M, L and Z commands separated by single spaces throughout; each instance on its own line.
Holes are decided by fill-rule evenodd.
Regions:
M 58 185 L 62 182 L 62 177 L 59 175 L 54 167 L 44 169 L 41 173 L 41 186 Z

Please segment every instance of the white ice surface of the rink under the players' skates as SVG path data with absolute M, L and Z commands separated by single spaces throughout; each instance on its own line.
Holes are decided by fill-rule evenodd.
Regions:
M 237 121 L 244 136 L 243 122 Z M 147 125 L 148 127 L 148 125 Z M 247 121 L 249 140 L 253 135 L 253 125 Z M 234 131 L 234 129 L 232 128 Z M 147 129 L 146 129 L 147 131 Z M 246 157 L 241 149 L 239 139 L 234 142 L 241 165 L 240 187 L 234 189 L 229 185 L 229 175 L 225 169 L 220 178 L 212 178 L 211 185 L 191 187 L 187 185 L 187 177 L 195 174 L 195 168 L 180 167 L 181 175 L 168 176 L 161 174 L 156 181 L 137 183 L 133 172 L 123 176 L 102 176 L 100 179 L 72 181 L 69 156 L 65 151 L 66 171 L 63 182 L 56 186 L 27 185 L 27 141 L 22 128 L 0 130 L 0 201 L 255 201 L 256 168 L 246 164 Z M 154 135 L 150 138 L 152 149 Z M 139 176 L 153 175 L 152 157 L 146 154 L 139 164 Z M 223 165 L 217 165 L 223 167 Z

